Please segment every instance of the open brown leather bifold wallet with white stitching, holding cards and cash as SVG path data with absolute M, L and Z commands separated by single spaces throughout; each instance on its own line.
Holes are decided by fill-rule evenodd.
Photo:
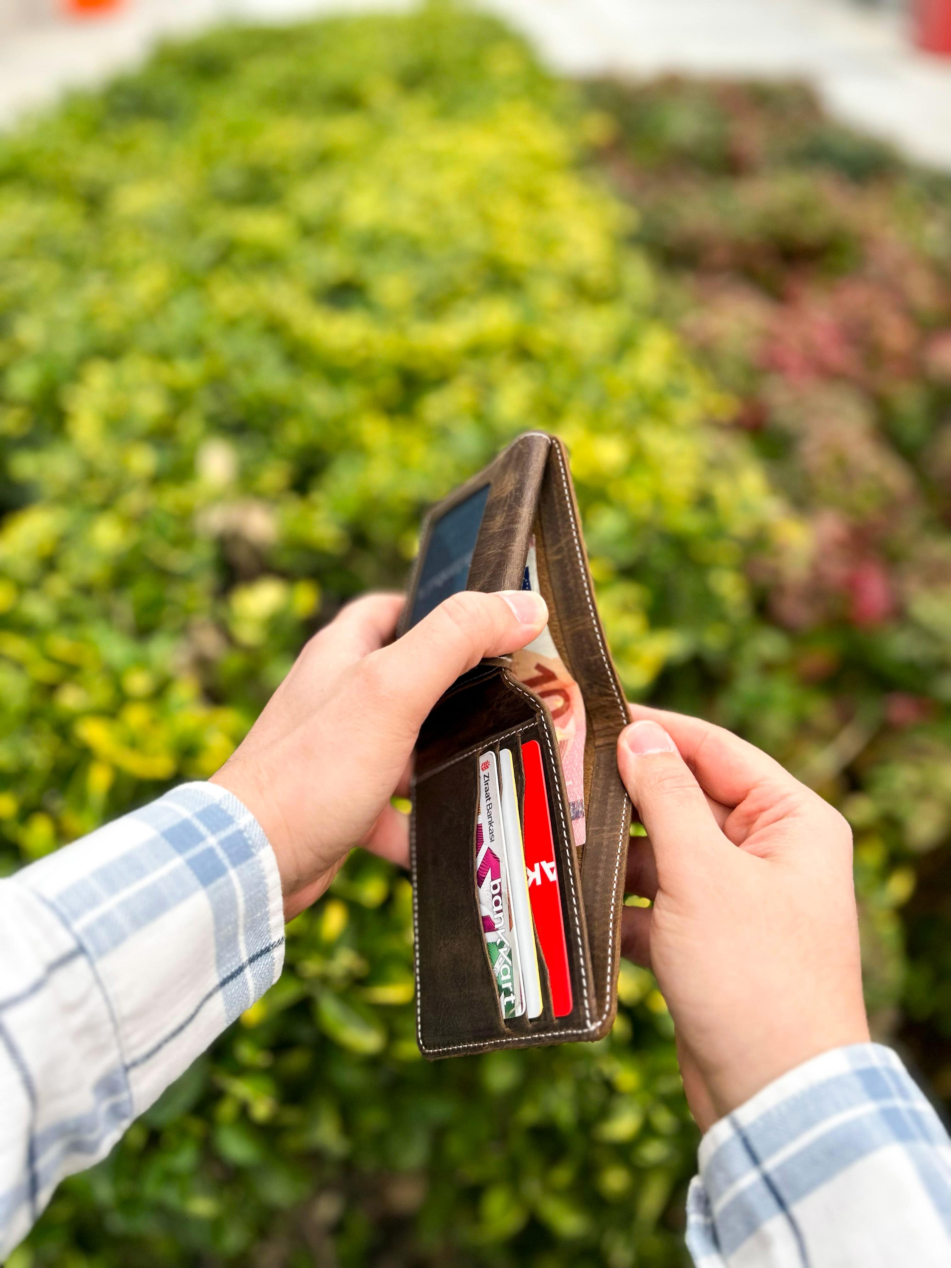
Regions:
M 459 678 L 416 749 L 417 1037 L 432 1059 L 601 1038 L 618 1009 L 630 801 L 615 751 L 628 709 L 595 607 L 568 454 L 540 431 L 520 436 L 426 516 L 401 633 L 460 590 L 519 588 L 541 592 L 548 631 Z M 479 886 L 492 883 L 487 865 L 477 875 L 486 817 L 488 829 L 501 819 L 483 800 L 489 762 L 500 785 L 505 765 L 525 832 L 535 955 L 524 943 L 521 954 L 526 981 L 527 961 L 538 967 L 535 1016 L 524 1000 L 511 1014 L 500 997 L 503 938 L 481 905 Z

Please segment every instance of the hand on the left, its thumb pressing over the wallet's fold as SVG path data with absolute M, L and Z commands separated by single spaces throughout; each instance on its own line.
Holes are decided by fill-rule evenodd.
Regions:
M 325 891 L 353 846 L 408 862 L 410 756 L 426 714 L 486 656 L 548 621 L 531 591 L 446 598 L 392 642 L 402 595 L 344 607 L 304 647 L 235 753 L 212 776 L 255 815 L 280 871 L 285 919 Z

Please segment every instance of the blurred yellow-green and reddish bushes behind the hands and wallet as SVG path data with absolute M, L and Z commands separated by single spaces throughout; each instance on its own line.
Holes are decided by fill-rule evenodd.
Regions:
M 526 427 L 631 696 L 856 831 L 876 1033 L 951 1097 L 951 183 L 792 86 L 566 86 L 496 23 L 221 30 L 0 138 L 0 866 L 209 775 Z M 355 856 L 11 1268 L 686 1263 L 696 1132 L 596 1045 L 424 1063 Z

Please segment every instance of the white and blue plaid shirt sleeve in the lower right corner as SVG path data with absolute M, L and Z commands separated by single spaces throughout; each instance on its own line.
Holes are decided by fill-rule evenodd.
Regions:
M 697 1268 L 947 1268 L 951 1141 L 893 1051 L 824 1052 L 704 1136 L 687 1244 Z

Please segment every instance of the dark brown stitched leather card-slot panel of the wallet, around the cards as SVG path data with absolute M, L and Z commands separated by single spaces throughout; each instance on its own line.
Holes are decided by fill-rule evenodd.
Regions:
M 416 895 L 417 1025 L 427 1056 L 479 1051 L 503 1044 L 553 1044 L 587 1037 L 592 990 L 587 933 L 558 743 L 536 697 L 501 668 L 476 683 L 460 683 L 444 699 L 446 711 L 430 715 L 417 749 L 413 781 L 412 865 Z M 434 711 L 435 713 L 435 711 Z M 505 719 L 508 725 L 492 727 Z M 436 725 L 434 725 L 434 720 Z M 481 735 L 476 720 L 482 724 Z M 469 739 L 459 746 L 462 732 Z M 543 753 L 545 792 L 559 881 L 559 900 L 572 984 L 572 1007 L 554 1016 L 552 985 L 536 936 L 543 1012 L 502 1018 L 486 947 L 474 875 L 474 824 L 479 806 L 478 754 L 512 751 L 520 813 L 525 814 L 521 746 L 536 739 Z M 441 758 L 441 760 L 440 760 Z

